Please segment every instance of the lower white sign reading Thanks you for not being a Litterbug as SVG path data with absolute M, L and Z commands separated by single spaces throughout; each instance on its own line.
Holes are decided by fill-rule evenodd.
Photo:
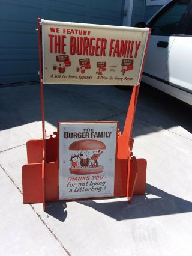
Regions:
M 59 123 L 59 199 L 114 195 L 117 123 Z

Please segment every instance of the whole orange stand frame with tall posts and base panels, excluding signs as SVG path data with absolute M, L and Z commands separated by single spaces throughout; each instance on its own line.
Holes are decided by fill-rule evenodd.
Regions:
M 149 32 L 149 35 L 151 31 Z M 148 48 L 148 41 L 146 50 Z M 22 167 L 23 203 L 43 203 L 59 201 L 59 157 L 58 132 L 46 139 L 43 96 L 43 69 L 41 51 L 41 19 L 38 19 L 38 46 L 40 57 L 41 115 L 43 139 L 30 140 L 26 143 L 28 163 Z M 143 64 L 145 62 L 145 57 Z M 142 66 L 143 72 L 143 66 Z M 141 74 L 142 74 L 141 72 Z M 141 80 L 141 76 L 140 76 Z M 133 195 L 145 194 L 146 160 L 133 156 L 133 129 L 139 84 L 133 87 L 130 105 L 125 120 L 124 131 L 118 132 L 116 142 L 115 187 L 114 197 L 127 197 L 130 203 Z

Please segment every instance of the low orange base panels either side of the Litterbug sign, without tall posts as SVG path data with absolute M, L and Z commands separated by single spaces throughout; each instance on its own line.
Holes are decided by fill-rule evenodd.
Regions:
M 55 132 L 56 134 L 56 132 Z M 118 141 L 119 141 L 118 137 Z M 131 148 L 133 139 L 131 138 Z M 58 161 L 58 136 L 50 136 L 46 139 L 46 160 L 44 166 L 44 198 L 42 190 L 42 150 L 43 140 L 31 140 L 26 144 L 28 164 L 22 168 L 23 180 L 23 203 L 42 203 L 44 201 L 59 200 L 59 161 Z M 117 142 L 119 150 L 119 144 Z M 131 154 L 130 154 L 131 155 Z M 128 164 L 130 163 L 130 177 Z M 146 160 L 136 159 L 131 156 L 130 160 L 116 158 L 115 165 L 115 192 L 114 197 L 128 196 L 131 201 L 133 195 L 145 194 L 146 183 Z

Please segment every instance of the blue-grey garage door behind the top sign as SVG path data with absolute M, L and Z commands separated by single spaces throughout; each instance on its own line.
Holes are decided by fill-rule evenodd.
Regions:
M 124 0 L 1 1 L 0 84 L 37 81 L 37 18 L 122 25 Z

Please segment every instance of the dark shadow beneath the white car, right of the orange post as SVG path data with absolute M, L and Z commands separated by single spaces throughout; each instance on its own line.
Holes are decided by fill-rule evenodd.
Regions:
M 147 84 L 140 87 L 138 103 L 140 102 L 140 106 L 137 104 L 137 118 L 163 129 L 181 126 L 192 133 L 192 108 L 187 103 Z

